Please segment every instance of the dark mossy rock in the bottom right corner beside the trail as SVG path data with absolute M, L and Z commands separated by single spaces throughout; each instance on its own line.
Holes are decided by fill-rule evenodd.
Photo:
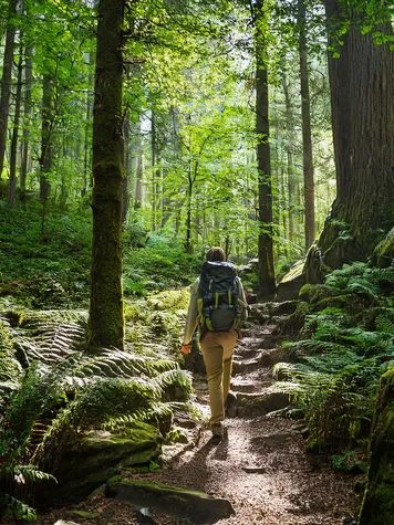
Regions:
M 371 434 L 371 464 L 359 525 L 394 523 L 394 366 L 383 375 Z

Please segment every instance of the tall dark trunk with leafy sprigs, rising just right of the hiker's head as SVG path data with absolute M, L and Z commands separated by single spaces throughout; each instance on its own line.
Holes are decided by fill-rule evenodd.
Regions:
M 266 14 L 262 1 L 255 7 L 255 46 L 256 46 L 256 132 L 258 135 L 257 162 L 259 180 L 259 291 L 260 297 L 270 296 L 276 291 L 272 240 L 272 189 L 271 157 L 269 143 L 269 98 L 268 66 L 265 35 L 261 31 L 261 18 Z

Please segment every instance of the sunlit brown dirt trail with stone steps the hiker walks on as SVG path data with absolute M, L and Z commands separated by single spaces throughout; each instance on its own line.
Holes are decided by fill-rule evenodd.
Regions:
M 276 325 L 250 325 L 235 356 L 232 390 L 247 399 L 272 386 L 267 348 Z M 272 339 L 273 340 L 273 339 Z M 273 358 L 274 361 L 274 358 Z M 195 375 L 196 400 L 207 416 L 208 395 L 204 376 Z M 237 402 L 238 406 L 238 402 Z M 212 438 L 206 424 L 187 430 L 188 444 L 164 447 L 163 469 L 134 477 L 203 491 L 230 502 L 234 514 L 222 525 L 351 525 L 360 500 L 354 476 L 333 471 L 329 462 L 305 449 L 304 423 L 281 412 L 235 410 L 226 420 L 222 440 Z M 82 513 L 81 513 L 82 511 Z M 85 513 L 85 514 L 84 514 Z M 40 514 L 38 525 L 186 525 L 185 517 L 165 515 L 154 505 L 138 508 L 106 498 L 98 490 L 76 505 Z M 60 525 L 59 523 L 59 525 Z M 201 522 L 199 522 L 201 523 Z M 214 523 L 214 522 L 209 522 Z

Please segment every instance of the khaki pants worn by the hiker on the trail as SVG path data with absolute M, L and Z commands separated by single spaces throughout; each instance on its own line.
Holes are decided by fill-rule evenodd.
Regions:
M 230 389 L 237 338 L 236 330 L 207 332 L 199 342 L 207 371 L 210 424 L 225 419 L 225 401 Z

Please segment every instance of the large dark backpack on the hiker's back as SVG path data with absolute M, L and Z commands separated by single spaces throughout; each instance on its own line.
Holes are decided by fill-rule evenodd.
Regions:
M 238 277 L 234 264 L 204 263 L 198 285 L 197 307 L 200 328 L 225 332 L 237 328 L 240 322 Z

